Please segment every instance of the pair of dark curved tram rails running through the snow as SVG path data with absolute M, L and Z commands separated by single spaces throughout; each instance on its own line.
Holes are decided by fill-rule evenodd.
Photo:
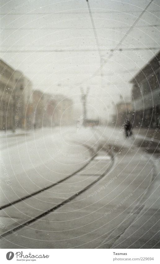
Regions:
M 86 147 L 86 145 L 85 145 L 85 147 Z M 109 164 L 107 164 L 106 166 L 107 166 L 107 168 L 104 168 L 103 167 L 103 172 L 101 173 L 101 174 L 95 174 L 95 175 L 93 175 L 92 177 L 89 177 L 89 175 L 90 174 L 88 174 L 88 176 L 84 176 L 84 175 L 86 175 L 86 174 L 80 174 L 81 172 L 83 172 L 83 169 L 87 169 L 87 166 L 89 167 L 90 166 L 90 164 L 93 162 L 93 164 L 95 165 L 95 161 L 94 161 L 94 159 L 95 159 L 95 157 L 97 156 L 97 151 L 98 151 L 98 148 L 97 148 L 97 151 L 94 151 L 93 149 L 91 149 L 91 147 L 90 146 L 87 146 L 91 151 L 92 151 L 92 156 L 91 156 L 91 158 L 90 158 L 90 160 L 89 160 L 89 162 L 87 163 L 87 164 L 85 164 L 82 168 L 80 168 L 80 169 L 78 169 L 76 172 L 74 172 L 73 174 L 71 174 L 71 175 L 69 175 L 69 176 L 67 176 L 67 177 L 65 177 L 65 178 L 63 178 L 63 179 L 61 179 L 60 181 L 58 181 L 57 183 L 54 183 L 54 184 L 52 184 L 52 185 L 50 185 L 50 186 L 48 186 L 48 187 L 46 187 L 46 188 L 43 188 L 43 189 L 41 189 L 41 190 L 39 190 L 38 192 L 34 192 L 34 193 L 32 193 L 32 194 L 30 194 L 30 195 L 28 195 L 27 197 L 25 196 L 25 197 L 23 197 L 23 198 L 21 198 L 21 199 L 18 199 L 18 200 L 16 200 L 16 201 L 14 201 L 14 202 L 11 202 L 11 203 L 8 203 L 8 204 L 6 204 L 5 206 L 3 206 L 3 207 L 1 207 L 1 212 L 4 212 L 4 213 L 6 213 L 6 215 L 8 215 L 8 217 L 10 217 L 10 218 L 12 218 L 11 216 L 9 216 L 9 212 L 11 211 L 14 211 L 15 210 L 15 213 L 16 213 L 16 210 L 17 210 L 17 212 L 18 212 L 18 214 L 19 215 L 23 215 L 23 216 L 25 216 L 25 219 L 23 219 L 22 218 L 22 220 L 20 221 L 20 222 L 18 222 L 18 221 L 16 221 L 16 223 L 14 222 L 14 220 L 13 220 L 13 224 L 14 225 L 16 225 L 15 227 L 13 227 L 13 228 L 10 228 L 10 230 L 8 231 L 6 231 L 5 230 L 5 232 L 3 232 L 1 235 L 0 235 L 0 238 L 3 238 L 3 237 L 5 237 L 5 236 L 7 236 L 7 235 L 9 235 L 9 234 L 11 234 L 12 232 L 15 232 L 15 231 L 17 231 L 17 230 L 19 230 L 19 229 L 21 229 L 21 228 L 23 228 L 23 227 L 25 227 L 25 226 L 27 226 L 27 225 L 29 225 L 29 224 L 31 224 L 31 223 L 33 223 L 33 222 L 35 222 L 35 221 L 37 221 L 37 220 L 40 220 L 41 218 L 43 218 L 45 215 L 48 215 L 49 213 L 51 213 L 51 212 L 54 212 L 55 210 L 57 210 L 60 206 L 63 206 L 63 205 L 65 205 L 66 203 L 68 203 L 68 202 L 70 202 L 70 201 L 72 201 L 75 197 L 77 197 L 78 195 L 80 195 L 81 193 L 83 193 L 83 192 L 85 192 L 87 189 L 89 189 L 90 187 L 92 187 L 95 183 L 97 183 L 98 181 L 100 181 L 103 177 L 105 177 L 106 176 L 106 174 L 110 171 L 110 169 L 112 168 L 112 166 L 113 166 L 113 163 L 114 163 L 114 156 L 113 156 L 113 152 L 112 152 L 112 150 L 110 151 L 110 153 L 108 152 L 107 153 L 107 155 L 110 155 L 110 157 L 111 157 L 111 159 L 110 159 L 110 161 L 108 162 Z M 105 155 L 106 155 L 106 153 L 105 153 Z M 98 163 L 98 162 L 97 162 Z M 92 164 L 91 164 L 92 165 Z M 104 163 L 103 163 L 103 165 L 104 165 Z M 92 167 L 91 167 L 92 168 Z M 87 182 L 88 183 L 88 181 L 89 181 L 89 183 L 88 184 L 85 184 L 85 186 L 83 186 L 83 188 L 81 188 L 80 190 L 78 190 L 78 191 L 76 191 L 75 193 L 69 193 L 69 196 L 67 197 L 67 195 L 68 195 L 68 193 L 65 193 L 65 195 L 66 195 L 66 199 L 61 199 L 61 198 L 57 198 L 57 199 L 59 199 L 59 202 L 57 202 L 57 204 L 55 205 L 55 206 L 53 206 L 53 202 L 52 202 L 52 206 L 49 206 L 49 204 L 47 204 L 48 205 L 48 208 L 47 208 L 47 210 L 45 210 L 45 211 L 43 211 L 43 210 L 39 210 L 39 209 L 37 209 L 37 211 L 38 212 L 36 212 L 36 210 L 35 210 L 35 212 L 34 212 L 34 216 L 30 216 L 30 215 L 27 215 L 27 212 L 29 211 L 29 213 L 30 213 L 30 210 L 29 209 L 32 209 L 31 207 L 32 207 L 32 205 L 34 205 L 35 204 L 35 198 L 36 197 L 38 197 L 38 201 L 43 201 L 43 200 L 40 200 L 39 199 L 39 197 L 41 197 L 42 199 L 43 199 L 43 197 L 45 197 L 45 192 L 47 191 L 47 190 L 51 190 L 51 191 L 55 191 L 54 189 L 55 188 L 61 188 L 61 183 L 64 183 L 64 184 L 71 184 L 70 183 L 70 180 L 71 180 L 71 177 L 75 177 L 76 179 L 78 179 L 77 177 L 81 177 L 81 176 L 83 176 L 84 178 L 86 177 L 86 179 L 85 179 L 85 182 Z M 95 176 L 96 176 L 96 179 L 95 179 Z M 94 180 L 93 180 L 93 177 L 94 177 Z M 90 179 L 91 178 L 91 179 Z M 83 185 L 84 183 L 83 183 L 84 181 L 82 181 L 82 183 L 81 183 L 81 185 Z M 66 185 L 67 186 L 67 185 Z M 76 185 L 75 185 L 76 186 Z M 53 190 L 52 190 L 53 189 Z M 57 192 L 55 192 L 55 193 L 57 193 Z M 54 193 L 53 193 L 54 194 Z M 59 194 L 62 194 L 62 193 L 59 193 Z M 70 195 L 70 194 L 72 194 L 72 195 Z M 54 196 L 54 195 L 53 195 Z M 52 197 L 52 192 L 51 192 L 51 197 L 50 197 L 50 199 L 52 198 L 52 200 L 54 200 L 54 197 Z M 37 198 L 36 198 L 37 199 Z M 29 205 L 27 204 L 27 203 L 25 203 L 25 201 L 24 200 L 30 200 L 29 201 Z M 48 202 L 48 203 L 51 203 L 51 202 Z M 31 206 L 30 206 L 31 205 Z M 15 206 L 19 206 L 19 207 L 15 207 Z M 21 208 L 23 208 L 23 212 L 21 211 Z M 46 208 L 46 207 L 45 207 Z M 19 210 L 20 209 L 20 210 Z M 25 211 L 25 209 L 26 209 L 26 211 Z M 32 210 L 33 211 L 33 210 Z M 32 214 L 32 213 L 31 213 Z

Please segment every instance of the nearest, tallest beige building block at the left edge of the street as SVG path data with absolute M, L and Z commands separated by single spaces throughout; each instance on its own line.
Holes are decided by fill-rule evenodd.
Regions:
M 19 71 L 0 60 L 0 130 L 30 129 L 32 83 Z

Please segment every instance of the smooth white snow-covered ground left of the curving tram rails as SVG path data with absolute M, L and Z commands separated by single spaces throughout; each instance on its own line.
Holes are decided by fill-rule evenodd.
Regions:
M 88 162 L 91 150 L 74 143 L 79 135 L 73 132 L 45 129 L 9 137 L 7 142 L 1 139 L 1 206 L 57 182 Z M 88 137 L 94 139 L 91 133 Z

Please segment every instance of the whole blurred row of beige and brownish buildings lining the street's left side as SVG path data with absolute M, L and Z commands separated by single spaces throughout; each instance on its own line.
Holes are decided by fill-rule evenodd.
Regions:
M 0 130 L 73 123 L 73 102 L 64 95 L 32 90 L 31 81 L 0 60 Z

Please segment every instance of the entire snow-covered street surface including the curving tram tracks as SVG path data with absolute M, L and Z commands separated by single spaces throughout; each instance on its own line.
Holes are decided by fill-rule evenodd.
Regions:
M 120 134 L 115 145 L 115 134 L 63 127 L 2 142 L 1 248 L 112 248 L 117 241 L 123 248 L 121 237 L 148 204 L 154 210 L 142 230 L 157 226 L 153 160 L 141 159 L 143 150 Z M 145 198 L 148 188 L 152 200 Z M 156 235 L 150 229 L 148 240 Z

